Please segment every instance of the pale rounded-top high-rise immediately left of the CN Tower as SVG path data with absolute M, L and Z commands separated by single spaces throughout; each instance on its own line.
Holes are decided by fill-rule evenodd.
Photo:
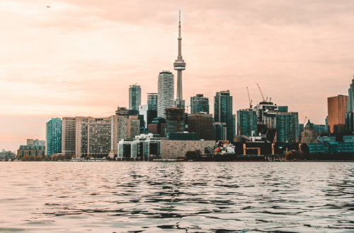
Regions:
M 174 78 L 170 71 L 159 73 L 157 90 L 157 117 L 166 118 L 165 109 L 173 106 L 174 96 Z

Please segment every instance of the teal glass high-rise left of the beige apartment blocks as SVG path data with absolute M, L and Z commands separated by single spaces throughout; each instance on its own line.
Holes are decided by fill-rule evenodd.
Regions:
M 62 119 L 52 118 L 45 124 L 45 155 L 62 153 Z

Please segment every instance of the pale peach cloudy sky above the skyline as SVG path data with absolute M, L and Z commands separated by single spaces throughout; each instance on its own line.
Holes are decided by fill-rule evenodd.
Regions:
M 47 6 L 50 6 L 47 7 Z M 52 117 L 108 117 L 129 85 L 157 91 L 177 59 L 183 97 L 229 90 L 233 111 L 263 94 L 324 124 L 354 74 L 353 0 L 0 0 L 0 149 L 45 139 Z M 176 71 L 175 82 L 176 82 Z M 175 85 L 176 87 L 176 85 Z

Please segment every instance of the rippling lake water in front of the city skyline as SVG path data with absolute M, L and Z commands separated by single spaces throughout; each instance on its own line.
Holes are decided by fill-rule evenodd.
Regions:
M 0 162 L 0 232 L 354 232 L 353 162 Z

